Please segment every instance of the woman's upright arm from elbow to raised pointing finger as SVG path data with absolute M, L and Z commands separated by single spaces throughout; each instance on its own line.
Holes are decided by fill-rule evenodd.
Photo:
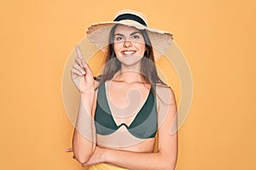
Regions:
M 96 83 L 78 46 L 76 50 L 78 57 L 71 69 L 71 76 L 75 86 L 79 89 L 80 105 L 73 133 L 73 153 L 75 159 L 84 163 L 89 160 L 96 147 L 93 122 Z

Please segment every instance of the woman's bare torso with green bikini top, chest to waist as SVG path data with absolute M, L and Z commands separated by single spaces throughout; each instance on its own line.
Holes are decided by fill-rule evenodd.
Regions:
M 110 80 L 96 92 L 97 145 L 116 150 L 152 152 L 157 130 L 154 87 L 142 82 Z

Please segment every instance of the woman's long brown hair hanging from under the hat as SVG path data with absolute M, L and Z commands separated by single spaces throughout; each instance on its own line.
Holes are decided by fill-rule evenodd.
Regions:
M 108 41 L 108 52 L 105 56 L 105 65 L 103 67 L 102 75 L 96 77 L 97 81 L 100 81 L 99 86 L 102 83 L 113 78 L 114 74 L 121 69 L 121 63 L 116 57 L 116 54 L 113 50 L 113 41 L 114 41 L 114 31 L 119 26 L 119 24 L 114 25 L 109 34 Z M 146 51 L 144 52 L 143 59 L 141 60 L 140 73 L 142 74 L 143 82 L 150 83 L 151 85 L 156 85 L 160 83 L 161 85 L 167 86 L 157 74 L 155 61 L 154 61 L 154 52 L 148 37 L 148 33 L 145 30 L 138 30 L 142 33 Z M 99 87 L 98 86 L 98 87 Z

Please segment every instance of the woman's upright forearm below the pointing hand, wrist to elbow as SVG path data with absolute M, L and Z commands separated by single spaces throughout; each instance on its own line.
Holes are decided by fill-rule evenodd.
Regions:
M 93 110 L 93 99 L 91 99 L 93 94 L 81 94 L 80 97 L 79 114 L 73 133 L 73 152 L 75 158 L 80 163 L 84 163 L 90 159 L 96 145 L 91 114 Z

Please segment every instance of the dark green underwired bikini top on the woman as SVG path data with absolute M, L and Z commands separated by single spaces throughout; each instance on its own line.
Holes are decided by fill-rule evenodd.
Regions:
M 108 135 L 117 131 L 119 127 L 125 126 L 129 133 L 138 139 L 154 138 L 158 126 L 155 104 L 153 89 L 150 88 L 146 102 L 137 113 L 133 122 L 131 122 L 131 125 L 127 126 L 125 123 L 121 123 L 118 126 L 116 122 L 114 122 L 112 113 L 109 109 L 105 83 L 103 83 L 102 86 L 98 88 L 97 93 L 96 113 L 94 117 L 96 133 Z

